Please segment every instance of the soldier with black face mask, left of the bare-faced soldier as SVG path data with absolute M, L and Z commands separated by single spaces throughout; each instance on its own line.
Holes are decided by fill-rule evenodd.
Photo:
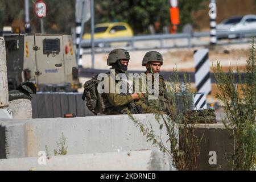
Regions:
M 125 49 L 114 49 L 112 52 L 109 53 L 108 57 L 108 65 L 111 66 L 115 70 L 115 75 L 118 73 L 125 73 L 127 72 L 128 64 L 130 60 L 129 52 Z M 108 73 L 110 74 L 110 72 Z M 109 76 L 110 79 L 114 79 Z M 118 82 L 115 81 L 115 85 Z M 131 110 L 130 104 L 134 101 L 138 101 L 139 99 L 143 98 L 143 94 L 129 94 L 127 93 L 106 93 L 108 100 L 112 107 L 106 109 L 105 114 L 127 114 L 128 110 Z

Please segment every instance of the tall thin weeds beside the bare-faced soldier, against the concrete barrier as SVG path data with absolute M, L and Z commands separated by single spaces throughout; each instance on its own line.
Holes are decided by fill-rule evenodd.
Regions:
M 154 117 L 159 125 L 159 132 L 154 130 L 152 124 L 147 121 L 138 121 L 129 113 L 129 118 L 139 127 L 141 133 L 146 136 L 148 142 L 152 142 L 160 151 L 167 154 L 173 161 L 177 170 L 196 170 L 197 158 L 199 156 L 199 139 L 195 135 L 195 124 L 189 123 L 192 106 L 191 83 L 184 75 L 184 81 L 179 81 L 177 68 L 174 69 L 174 78 L 170 77 L 171 85 L 167 86 L 167 97 L 170 100 L 170 113 L 164 114 L 158 100 L 150 102 L 154 108 Z M 177 101 L 177 98 L 179 100 Z M 179 103 L 178 103 L 179 102 Z M 180 107 L 182 105 L 182 107 Z M 167 141 L 163 141 L 163 131 L 167 133 Z

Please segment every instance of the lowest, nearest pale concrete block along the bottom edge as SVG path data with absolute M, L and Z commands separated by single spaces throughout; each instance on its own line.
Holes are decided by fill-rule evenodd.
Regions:
M 39 161 L 39 163 L 38 163 Z M 44 165 L 45 161 L 45 165 Z M 41 164 L 41 165 L 40 165 Z M 169 171 L 170 159 L 153 151 L 111 152 L 0 160 L 0 171 Z

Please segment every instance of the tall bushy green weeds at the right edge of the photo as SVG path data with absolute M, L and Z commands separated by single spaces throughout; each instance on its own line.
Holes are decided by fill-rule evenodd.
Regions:
M 233 170 L 254 170 L 256 167 L 256 57 L 254 39 L 242 78 L 237 67 L 239 82 L 236 83 L 234 70 L 224 73 L 220 62 L 213 68 L 217 88 L 216 98 L 223 104 L 226 117 L 222 117 L 226 129 L 233 137 L 233 154 L 228 160 Z M 241 85 L 241 88 L 238 87 Z

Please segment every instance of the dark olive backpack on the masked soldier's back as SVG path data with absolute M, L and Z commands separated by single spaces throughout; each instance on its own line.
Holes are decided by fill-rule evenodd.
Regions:
M 98 93 L 98 83 L 97 76 L 89 81 L 86 81 L 84 84 L 84 93 L 82 94 L 82 100 L 86 102 L 86 106 L 93 114 L 104 114 L 105 109 L 111 107 L 108 98 L 105 94 Z

